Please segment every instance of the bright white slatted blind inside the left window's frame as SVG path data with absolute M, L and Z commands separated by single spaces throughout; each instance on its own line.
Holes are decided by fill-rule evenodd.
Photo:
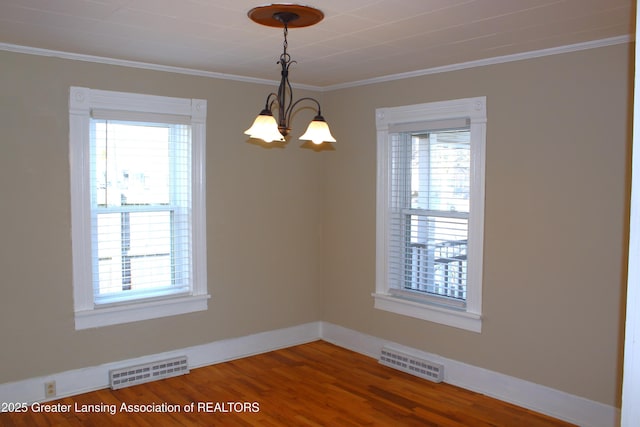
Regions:
M 191 127 L 91 119 L 96 305 L 190 291 Z

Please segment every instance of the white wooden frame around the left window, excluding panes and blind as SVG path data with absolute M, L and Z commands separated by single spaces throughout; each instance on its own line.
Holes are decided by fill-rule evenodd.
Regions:
M 179 118 L 192 133 L 192 263 L 189 292 L 97 306 L 91 260 L 90 121 L 93 111 L 130 120 Z M 75 328 L 87 329 L 207 309 L 205 145 L 207 102 L 71 87 L 69 153 Z

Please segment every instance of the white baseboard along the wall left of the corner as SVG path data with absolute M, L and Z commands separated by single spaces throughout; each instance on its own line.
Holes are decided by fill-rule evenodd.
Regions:
M 187 347 L 119 362 L 61 372 L 38 378 L 0 384 L 0 402 L 28 403 L 61 399 L 89 391 L 109 387 L 109 370 L 149 363 L 155 360 L 187 356 L 189 369 L 239 359 L 279 348 L 320 339 L 319 322 L 306 323 L 290 328 L 262 332 L 239 338 L 215 341 L 209 344 Z M 55 398 L 47 399 L 44 383 L 56 382 Z

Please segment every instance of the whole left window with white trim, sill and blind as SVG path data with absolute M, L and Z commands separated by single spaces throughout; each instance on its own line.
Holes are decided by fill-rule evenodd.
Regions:
M 206 310 L 206 101 L 72 87 L 76 329 Z

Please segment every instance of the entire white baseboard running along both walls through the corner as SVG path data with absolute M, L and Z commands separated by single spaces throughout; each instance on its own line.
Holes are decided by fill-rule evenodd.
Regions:
M 58 374 L 0 384 L 0 402 L 43 402 L 44 383 L 56 381 L 56 397 L 60 399 L 109 387 L 109 370 L 144 364 L 155 360 L 186 355 L 189 368 L 213 365 L 265 353 L 279 348 L 323 339 L 340 347 L 377 359 L 382 346 L 426 358 L 445 366 L 445 382 L 505 402 L 513 403 L 583 427 L 615 427 L 620 425 L 620 409 L 515 377 L 467 365 L 383 340 L 328 322 L 312 322 L 239 338 L 215 341 L 165 353 L 122 360 Z M 52 399 L 48 399 L 52 400 Z

